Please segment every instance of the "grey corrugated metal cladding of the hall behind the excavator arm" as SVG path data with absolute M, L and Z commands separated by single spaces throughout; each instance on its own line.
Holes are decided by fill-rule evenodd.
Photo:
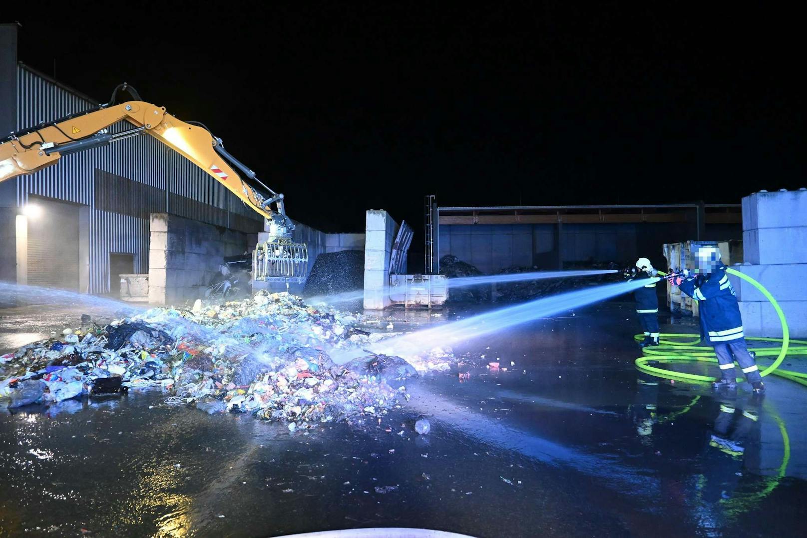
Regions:
M 17 129 L 97 104 L 56 86 L 24 65 L 18 67 L 17 89 Z M 125 128 L 131 126 L 122 123 L 111 131 Z M 136 271 L 148 272 L 149 220 L 142 200 L 148 200 L 148 211 L 170 212 L 249 233 L 263 229 L 261 217 L 236 195 L 148 136 L 69 155 L 56 166 L 15 180 L 18 206 L 27 204 L 29 195 L 90 206 L 90 293 L 109 292 L 110 253 L 135 254 Z M 130 181 L 143 187 L 127 186 Z M 159 208 L 156 190 L 162 193 Z

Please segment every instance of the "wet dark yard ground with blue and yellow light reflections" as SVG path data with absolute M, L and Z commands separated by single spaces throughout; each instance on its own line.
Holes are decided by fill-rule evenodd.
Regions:
M 19 334 L 63 322 L 27 319 Z M 15 323 L 2 321 L 7 337 Z M 0 534 L 801 534 L 807 389 L 769 377 L 759 399 L 643 376 L 636 326 L 611 303 L 468 343 L 455 351 L 474 366 L 408 380 L 407 407 L 360 426 L 290 435 L 165 406 L 159 391 L 0 414 Z M 429 435 L 414 431 L 420 417 Z

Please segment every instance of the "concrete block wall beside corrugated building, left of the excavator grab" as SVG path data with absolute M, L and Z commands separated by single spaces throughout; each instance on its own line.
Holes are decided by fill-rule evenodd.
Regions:
M 180 304 L 204 295 L 224 256 L 254 246 L 254 234 L 154 213 L 148 251 L 148 302 Z

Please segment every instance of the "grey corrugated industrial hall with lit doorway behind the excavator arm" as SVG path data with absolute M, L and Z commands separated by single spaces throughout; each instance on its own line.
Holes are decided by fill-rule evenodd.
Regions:
M 102 102 L 19 61 L 17 29 L 0 25 L 0 132 Z M 149 272 L 153 213 L 229 230 L 243 247 L 228 254 L 263 229 L 260 215 L 182 155 L 131 137 L 0 183 L 0 280 L 115 293 L 116 275 Z

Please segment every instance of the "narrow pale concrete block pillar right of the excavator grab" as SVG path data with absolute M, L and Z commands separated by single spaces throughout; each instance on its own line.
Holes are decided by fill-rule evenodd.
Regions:
M 364 250 L 364 308 L 385 309 L 390 301 L 390 254 L 399 225 L 386 211 L 367 211 Z

